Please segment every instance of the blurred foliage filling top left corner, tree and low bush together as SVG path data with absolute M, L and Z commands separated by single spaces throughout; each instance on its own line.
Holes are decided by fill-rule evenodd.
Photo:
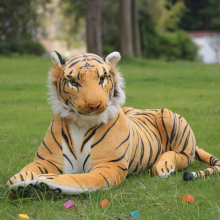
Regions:
M 0 55 L 42 55 L 44 47 L 37 41 L 46 5 L 51 0 L 1 0 L 0 1 Z M 41 13 L 37 9 L 41 8 Z

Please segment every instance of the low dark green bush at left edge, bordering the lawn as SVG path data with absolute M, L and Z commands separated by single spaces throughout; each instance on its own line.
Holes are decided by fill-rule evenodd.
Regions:
M 12 54 L 42 55 L 45 48 L 38 40 L 32 40 L 29 36 L 17 36 L 0 41 L 0 55 L 11 56 Z

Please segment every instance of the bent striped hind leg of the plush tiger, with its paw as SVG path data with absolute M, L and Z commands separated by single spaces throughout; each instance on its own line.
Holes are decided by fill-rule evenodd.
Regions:
M 196 141 L 187 121 L 168 109 L 161 109 L 156 116 L 164 153 L 153 166 L 152 174 L 167 177 L 175 170 L 192 164 Z

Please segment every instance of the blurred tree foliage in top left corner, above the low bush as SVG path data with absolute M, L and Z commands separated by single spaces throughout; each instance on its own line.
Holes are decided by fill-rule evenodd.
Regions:
M 19 35 L 34 35 L 40 19 L 51 0 L 1 0 L 0 40 Z M 42 7 L 42 14 L 36 10 Z

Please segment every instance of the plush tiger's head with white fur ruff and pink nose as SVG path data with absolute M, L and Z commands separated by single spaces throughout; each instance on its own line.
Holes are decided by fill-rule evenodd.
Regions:
M 71 118 L 78 126 L 107 123 L 125 102 L 123 78 L 115 68 L 119 52 L 104 60 L 92 53 L 66 61 L 54 51 L 49 72 L 49 101 L 55 114 Z

